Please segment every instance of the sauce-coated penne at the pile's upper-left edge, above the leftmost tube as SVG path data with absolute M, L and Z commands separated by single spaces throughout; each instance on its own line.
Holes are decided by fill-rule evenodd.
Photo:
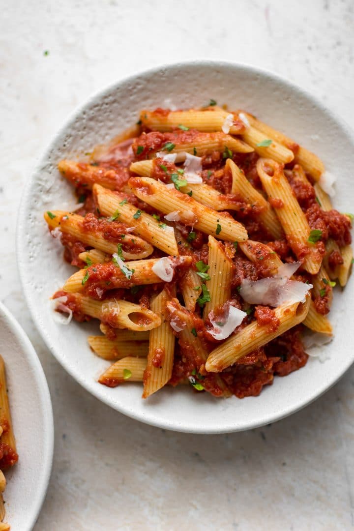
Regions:
M 75 160 L 61 160 L 58 164 L 59 172 L 74 186 L 82 185 L 91 190 L 95 183 L 105 186 L 110 190 L 116 190 L 122 182 L 129 178 L 127 168 L 119 170 L 93 166 L 86 162 Z M 123 174 L 123 179 L 122 179 Z

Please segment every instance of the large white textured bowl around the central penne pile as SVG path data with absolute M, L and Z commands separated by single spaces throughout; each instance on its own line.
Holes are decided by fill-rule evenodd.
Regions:
M 351 291 L 335 293 L 332 322 L 335 338 L 325 348 L 325 363 L 309 359 L 286 378 L 275 378 L 259 397 L 214 399 L 190 389 L 166 388 L 148 400 L 142 387 L 115 389 L 97 383 L 107 362 L 94 356 L 87 336 L 92 324 L 55 323 L 48 298 L 74 271 L 64 264 L 62 250 L 49 235 L 43 212 L 72 203 L 71 187 L 56 165 L 64 157 L 84 153 L 134 124 L 142 108 L 203 105 L 210 98 L 230 108 L 245 108 L 313 150 L 338 177 L 335 207 L 350 211 L 353 204 L 354 139 L 337 116 L 303 90 L 269 72 L 236 64 L 198 61 L 164 66 L 137 74 L 100 92 L 77 110 L 51 141 L 23 193 L 17 250 L 22 285 L 32 318 L 51 352 L 63 367 L 94 396 L 142 422 L 170 430 L 222 433 L 274 422 L 309 404 L 329 389 L 354 361 Z

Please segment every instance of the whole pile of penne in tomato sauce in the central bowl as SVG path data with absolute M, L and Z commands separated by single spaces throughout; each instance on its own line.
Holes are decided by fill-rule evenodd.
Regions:
M 322 161 L 283 133 L 214 100 L 142 110 L 58 169 L 79 204 L 45 213 L 76 268 L 54 315 L 100 321 L 100 384 L 257 396 L 306 364 L 306 329 L 332 336 L 351 215 L 332 208 Z

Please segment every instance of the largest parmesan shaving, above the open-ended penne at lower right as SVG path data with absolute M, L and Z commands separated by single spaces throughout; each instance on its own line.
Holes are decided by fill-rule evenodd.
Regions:
M 299 262 L 283 264 L 274 277 L 255 281 L 245 278 L 241 282 L 241 297 L 249 304 L 273 307 L 286 303 L 305 302 L 306 295 L 313 285 L 289 280 L 299 265 Z

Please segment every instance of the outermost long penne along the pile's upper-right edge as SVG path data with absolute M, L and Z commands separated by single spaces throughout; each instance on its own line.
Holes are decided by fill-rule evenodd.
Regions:
M 265 138 L 274 139 L 290 149 L 294 153 L 294 160 L 300 164 L 304 168 L 305 172 L 310 174 L 315 181 L 318 181 L 318 179 L 321 177 L 321 174 L 324 172 L 324 165 L 321 159 L 319 159 L 311 151 L 308 151 L 301 145 L 298 145 L 280 131 L 277 131 L 276 129 L 273 129 L 273 127 L 260 122 L 251 114 L 244 113 L 244 115 L 246 116 L 249 124 L 258 131 L 261 131 L 265 135 Z

